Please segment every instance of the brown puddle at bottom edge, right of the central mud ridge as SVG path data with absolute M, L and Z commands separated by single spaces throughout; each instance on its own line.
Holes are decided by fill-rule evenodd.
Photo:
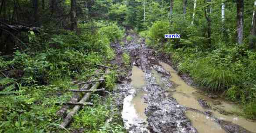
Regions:
M 186 116 L 191 120 L 198 133 L 226 133 L 213 119 L 202 113 L 187 111 Z

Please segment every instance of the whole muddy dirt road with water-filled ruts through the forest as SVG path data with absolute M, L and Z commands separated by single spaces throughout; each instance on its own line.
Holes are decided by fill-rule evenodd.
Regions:
M 124 67 L 124 52 L 131 58 L 128 74 L 119 76 L 115 89 L 127 132 L 256 133 L 255 122 L 232 114 L 238 105 L 195 89 L 189 77 L 179 76 L 142 38 L 127 34 L 132 41 L 112 44 L 117 54 L 113 64 Z

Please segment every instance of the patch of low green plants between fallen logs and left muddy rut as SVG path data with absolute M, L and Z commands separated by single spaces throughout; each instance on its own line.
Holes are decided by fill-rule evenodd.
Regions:
M 71 127 L 75 129 L 84 128 L 88 133 L 124 133 L 120 114 L 113 106 L 112 95 L 103 98 L 99 95 L 92 95 L 94 106 L 83 108 L 75 117 Z M 112 119 L 106 123 L 107 119 Z

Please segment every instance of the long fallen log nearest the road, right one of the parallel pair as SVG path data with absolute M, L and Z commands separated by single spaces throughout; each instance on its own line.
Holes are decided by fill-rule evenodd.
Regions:
M 108 72 L 108 69 L 106 69 L 106 73 Z M 101 79 L 103 79 L 104 77 L 101 77 Z M 90 88 L 90 90 L 96 90 L 100 84 L 102 83 L 102 81 L 99 82 L 95 82 L 95 84 Z M 88 92 L 86 93 L 83 98 L 79 101 L 79 103 L 84 103 L 87 100 L 89 100 L 90 95 L 92 92 Z M 76 105 L 71 112 L 69 112 L 69 114 L 65 117 L 65 119 L 63 120 L 63 122 L 61 123 L 61 126 L 66 127 L 69 125 L 69 123 L 72 120 L 72 117 L 79 111 L 79 109 L 81 109 L 81 105 Z

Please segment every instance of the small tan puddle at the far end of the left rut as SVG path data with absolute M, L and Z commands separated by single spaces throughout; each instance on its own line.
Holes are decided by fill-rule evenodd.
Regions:
M 133 66 L 132 68 L 131 79 L 131 85 L 133 85 L 134 88 L 140 89 L 145 86 L 144 72 L 137 66 Z

